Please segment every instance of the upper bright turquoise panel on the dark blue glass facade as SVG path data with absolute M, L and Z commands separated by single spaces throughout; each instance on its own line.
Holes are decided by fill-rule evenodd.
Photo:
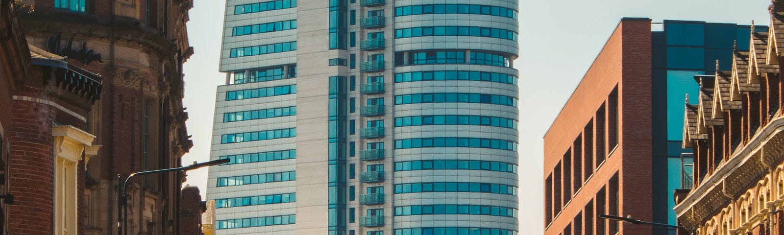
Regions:
M 667 71 L 667 139 L 681 141 L 684 127 L 684 106 L 686 94 L 689 103 L 696 104 L 699 100 L 699 85 L 694 75 L 704 74 L 703 71 Z

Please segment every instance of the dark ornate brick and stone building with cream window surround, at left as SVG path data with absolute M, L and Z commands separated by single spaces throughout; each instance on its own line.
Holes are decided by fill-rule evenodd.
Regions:
M 0 78 L 9 78 L 2 80 L 0 94 L 10 92 L 12 108 L 0 114 L 0 132 L 10 136 L 0 141 L 0 156 L 9 155 L 0 168 L 11 178 L 0 185 L 0 194 L 13 193 L 15 203 L 2 206 L 3 215 L 13 215 L 0 218 L 7 221 L 3 229 L 117 234 L 117 175 L 125 179 L 132 172 L 179 167 L 192 146 L 182 107 L 182 64 L 193 53 L 185 27 L 191 1 L 23 0 L 27 7 L 10 20 L 9 2 L 2 1 L 0 14 Z M 12 36 L 17 38 L 8 39 Z M 8 40 L 18 46 L 8 47 Z M 32 59 L 24 55 L 28 43 Z M 34 70 L 38 63 L 43 68 Z M 56 66 L 64 68 L 47 69 Z M 13 83 L 21 78 L 40 81 Z M 98 86 L 77 78 L 91 78 Z M 87 96 L 91 92 L 95 96 Z M 0 98 L 0 107 L 6 107 L 5 96 Z M 47 157 L 78 144 L 82 152 L 60 157 L 62 168 L 60 158 Z M 94 146 L 100 146 L 98 153 Z M 75 179 L 60 181 L 71 180 L 61 172 Z M 128 234 L 180 233 L 183 177 L 172 172 L 132 180 Z M 58 186 L 71 185 L 75 191 L 58 196 Z M 60 208 L 58 200 L 73 202 L 72 208 Z

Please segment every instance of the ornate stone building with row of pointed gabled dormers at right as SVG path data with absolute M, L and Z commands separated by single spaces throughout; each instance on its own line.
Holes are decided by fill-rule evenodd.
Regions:
M 687 97 L 699 99 L 684 117 L 694 185 L 676 192 L 674 209 L 695 234 L 784 234 L 784 1 L 769 10 L 769 32 L 752 30 L 732 70 L 695 76 L 699 97 Z

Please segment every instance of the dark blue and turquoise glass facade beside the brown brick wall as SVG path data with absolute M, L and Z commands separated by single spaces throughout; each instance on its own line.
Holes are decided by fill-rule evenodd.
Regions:
M 681 20 L 662 24 L 663 31 L 652 32 L 653 218 L 654 222 L 676 224 L 673 192 L 682 187 L 682 164 L 691 164 L 691 150 L 681 148 L 685 96 L 699 97 L 694 75 L 713 74 L 716 60 L 720 70 L 731 70 L 735 42 L 739 50 L 749 49 L 750 27 Z M 690 100 L 691 104 L 697 102 Z M 684 159 L 682 154 L 686 154 Z M 675 233 L 655 230 L 655 234 Z

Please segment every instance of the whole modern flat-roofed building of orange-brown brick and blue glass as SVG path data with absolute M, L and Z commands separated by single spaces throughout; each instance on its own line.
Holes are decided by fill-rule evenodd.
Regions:
M 598 215 L 676 224 L 673 193 L 691 186 L 684 97 L 699 94 L 694 75 L 730 69 L 749 35 L 745 25 L 622 19 L 544 137 L 545 234 L 675 234 Z

